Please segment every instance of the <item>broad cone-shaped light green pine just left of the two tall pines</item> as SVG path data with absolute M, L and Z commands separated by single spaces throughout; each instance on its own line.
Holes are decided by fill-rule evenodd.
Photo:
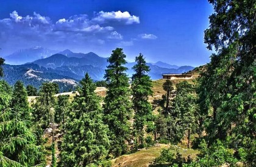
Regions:
M 80 81 L 73 111 L 65 123 L 60 166 L 101 166 L 110 145 L 108 128 L 102 120 L 100 98 L 86 73 Z

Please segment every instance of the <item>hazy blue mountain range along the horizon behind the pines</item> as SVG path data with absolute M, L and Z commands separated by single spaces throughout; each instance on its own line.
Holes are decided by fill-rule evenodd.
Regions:
M 6 63 L 20 62 L 23 64 L 5 64 L 4 79 L 9 84 L 22 80 L 25 85 L 32 84 L 36 87 L 39 87 L 45 81 L 52 81 L 58 83 L 62 91 L 74 89 L 74 86 L 84 77 L 86 72 L 89 73 L 93 80 L 104 80 L 105 69 L 108 65 L 107 58 L 98 56 L 93 52 L 74 53 L 68 49 L 53 55 L 50 52 L 56 51 L 50 51 L 43 47 L 34 47 L 6 56 Z M 134 65 L 134 62 L 126 64 L 129 77 L 132 77 L 132 67 Z M 163 73 L 184 73 L 194 69 L 191 66 L 179 67 L 161 61 L 148 63 L 148 66 L 151 69 L 148 74 L 152 80 L 162 78 Z

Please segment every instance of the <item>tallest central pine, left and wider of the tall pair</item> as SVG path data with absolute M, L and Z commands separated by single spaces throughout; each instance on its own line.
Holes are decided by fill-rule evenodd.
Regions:
M 108 82 L 107 96 L 104 104 L 104 120 L 110 129 L 111 148 L 115 155 L 124 154 L 127 151 L 126 141 L 129 140 L 131 117 L 131 103 L 129 92 L 129 78 L 126 75 L 126 55 L 123 49 L 116 48 L 108 58 L 109 65 L 105 70 L 105 78 Z

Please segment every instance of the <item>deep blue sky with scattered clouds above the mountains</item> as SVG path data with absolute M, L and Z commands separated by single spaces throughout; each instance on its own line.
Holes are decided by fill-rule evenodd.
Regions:
M 122 47 L 128 61 L 140 52 L 148 62 L 179 66 L 210 61 L 206 0 L 9 0 L 0 7 L 3 56 L 34 46 L 110 56 Z

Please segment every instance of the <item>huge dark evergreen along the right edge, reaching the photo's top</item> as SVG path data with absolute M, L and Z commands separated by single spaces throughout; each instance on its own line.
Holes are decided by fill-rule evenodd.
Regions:
M 205 30 L 205 43 L 216 54 L 202 73 L 201 109 L 210 116 L 211 141 L 230 135 L 241 145 L 243 140 L 255 140 L 256 132 L 256 1 L 209 2 L 215 13 Z

